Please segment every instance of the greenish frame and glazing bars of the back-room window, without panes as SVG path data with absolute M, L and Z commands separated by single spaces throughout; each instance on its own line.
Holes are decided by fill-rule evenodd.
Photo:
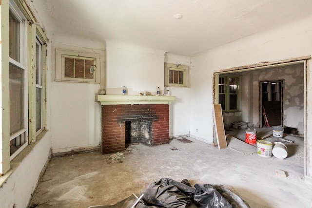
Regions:
M 220 93 L 219 87 L 220 83 L 219 80 L 220 78 L 224 78 L 224 92 Z M 230 79 L 237 79 L 237 92 L 236 93 L 231 93 L 230 92 Z M 218 76 L 218 103 L 220 103 L 220 95 L 225 95 L 225 106 L 223 108 L 222 106 L 222 112 L 223 113 L 231 113 L 231 112 L 240 112 L 241 111 L 241 95 L 240 95 L 240 83 L 241 79 L 239 76 L 232 76 L 232 75 L 219 75 Z M 236 101 L 236 106 L 237 109 L 230 110 L 230 95 L 237 95 L 237 101 Z M 221 103 L 222 104 L 222 103 Z

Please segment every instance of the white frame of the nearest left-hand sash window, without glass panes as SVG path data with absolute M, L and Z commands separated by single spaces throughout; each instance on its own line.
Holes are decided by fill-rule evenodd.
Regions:
M 28 36 L 27 36 L 27 19 L 25 15 L 20 11 L 20 8 L 17 6 L 17 4 L 14 1 L 9 1 L 9 13 L 18 19 L 20 22 L 19 24 L 19 57 L 20 60 L 15 60 L 11 57 L 9 57 L 9 65 L 13 65 L 21 70 L 24 70 L 24 76 L 23 76 L 23 128 L 18 130 L 17 132 L 14 132 L 10 135 L 9 141 L 10 141 L 10 149 L 11 149 L 11 141 L 14 139 L 18 140 L 18 137 L 22 137 L 24 134 L 24 144 L 20 145 L 20 147 L 14 151 L 12 154 L 10 153 L 10 160 L 13 160 L 27 145 L 28 145 Z M 10 36 L 10 33 L 9 33 Z M 10 119 L 11 120 L 11 119 Z

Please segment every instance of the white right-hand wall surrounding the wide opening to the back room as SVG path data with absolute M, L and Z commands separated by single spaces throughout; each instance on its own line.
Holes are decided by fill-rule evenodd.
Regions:
M 192 57 L 193 73 L 191 88 L 191 134 L 213 142 L 213 73 L 222 69 L 275 61 L 292 57 L 312 55 L 312 16 L 292 24 L 281 26 L 267 32 L 255 34 L 237 41 L 216 47 Z M 309 63 L 307 76 L 307 100 L 311 100 L 312 64 Z M 208 107 L 207 107 L 208 106 Z M 311 176 L 312 160 L 312 107 L 307 103 L 307 172 Z M 203 132 L 196 132 L 196 128 Z M 206 127 L 206 128 L 204 128 Z

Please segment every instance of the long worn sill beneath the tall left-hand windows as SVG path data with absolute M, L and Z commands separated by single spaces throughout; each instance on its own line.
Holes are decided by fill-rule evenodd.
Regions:
M 36 137 L 36 142 L 34 144 L 27 145 L 24 150 L 22 150 L 10 163 L 10 170 L 7 171 L 4 175 L 0 176 L 0 188 L 4 183 L 8 180 L 8 178 L 12 175 L 12 173 L 19 167 L 19 165 L 23 162 L 23 160 L 27 157 L 27 155 L 34 149 L 34 147 L 39 143 L 39 141 L 43 138 L 46 131 L 42 131 Z

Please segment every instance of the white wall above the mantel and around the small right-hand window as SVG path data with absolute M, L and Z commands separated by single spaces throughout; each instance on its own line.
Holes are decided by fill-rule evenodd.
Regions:
M 106 94 L 121 95 L 122 87 L 128 95 L 146 91 L 156 95 L 157 87 L 164 93 L 164 63 L 190 65 L 190 57 L 166 54 L 165 51 L 128 43 L 106 41 Z M 190 88 L 170 88 L 176 101 L 170 104 L 170 136 L 189 133 Z

